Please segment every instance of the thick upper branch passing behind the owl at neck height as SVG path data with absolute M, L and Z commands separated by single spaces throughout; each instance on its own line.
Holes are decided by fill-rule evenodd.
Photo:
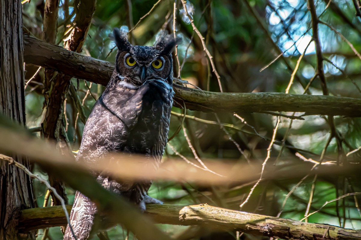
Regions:
M 114 64 L 74 53 L 24 36 L 25 62 L 106 85 Z M 218 93 L 174 85 L 175 106 L 204 112 L 305 112 L 332 116 L 361 116 L 361 99 L 283 93 Z

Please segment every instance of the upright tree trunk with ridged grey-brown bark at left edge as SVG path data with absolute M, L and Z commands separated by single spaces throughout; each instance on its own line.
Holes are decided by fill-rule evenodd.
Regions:
M 19 0 L 0 0 L 0 113 L 25 125 L 22 9 Z M 4 136 L 2 136 L 4 137 Z M 25 166 L 26 158 L 10 155 Z M 0 162 L 0 240 L 35 239 L 19 234 L 20 210 L 34 207 L 29 176 L 5 161 Z

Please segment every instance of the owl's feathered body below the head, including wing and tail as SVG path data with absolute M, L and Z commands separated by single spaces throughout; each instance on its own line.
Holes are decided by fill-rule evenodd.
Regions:
M 147 156 L 149 165 L 157 169 L 168 139 L 173 104 L 170 76 L 172 70 L 167 79 L 155 76 L 141 86 L 129 87 L 114 70 L 86 122 L 77 160 L 97 162 L 106 153 L 137 153 Z M 94 174 L 103 187 L 129 199 L 143 211 L 145 200 L 147 203 L 156 200 L 146 195 L 151 181 L 117 182 L 104 174 Z M 70 223 L 78 240 L 89 237 L 95 213 L 96 205 L 77 191 Z M 64 239 L 74 239 L 69 226 Z

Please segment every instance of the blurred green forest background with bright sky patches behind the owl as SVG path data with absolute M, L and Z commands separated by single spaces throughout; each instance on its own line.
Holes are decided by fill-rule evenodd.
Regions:
M 79 1 L 60 0 L 59 4 L 55 44 L 63 46 L 73 26 Z M 361 50 L 361 14 L 357 15 L 360 1 L 317 0 L 314 4 L 319 19 L 333 28 L 318 25 L 329 93 L 360 98 L 361 60 L 350 47 L 351 44 L 357 51 Z M 42 0 L 25 0 L 22 5 L 23 26 L 39 39 L 42 39 L 44 5 Z M 312 22 L 307 1 L 192 0 L 187 1 L 186 6 L 189 14 L 180 0 L 97 1 L 81 53 L 114 62 L 116 49 L 110 38 L 113 28 L 129 31 L 145 16 L 129 33 L 132 44 L 152 45 L 161 31 L 175 32 L 183 41 L 177 55 L 181 71 L 174 55 L 174 77 L 187 83 L 188 87 L 219 92 L 212 65 L 199 36 L 193 31 L 193 21 L 213 56 L 224 92 L 285 92 L 297 60 L 305 54 L 289 93 L 322 95 L 321 82 L 318 77 L 314 78 L 317 57 L 315 44 L 311 42 Z M 25 69 L 25 81 L 39 70 L 25 90 L 27 127 L 36 131 L 46 117 L 44 96 L 49 90 L 44 87 L 43 68 L 26 64 Z M 71 81 L 87 117 L 104 86 L 82 79 Z M 64 100 L 65 139 L 73 151 L 79 148 L 84 128 L 78 109 L 74 95 L 68 91 Z M 38 134 L 42 136 L 40 132 Z M 265 169 L 272 166 L 296 173 L 300 166 L 311 169 L 314 165 L 297 157 L 297 152 L 306 159 L 330 164 L 359 164 L 361 160 L 361 151 L 358 151 L 361 146 L 360 118 L 271 112 L 214 114 L 174 107 L 169 137 L 172 135 L 162 161 L 183 157 L 199 166 L 200 162 L 193 159 L 227 160 L 261 167 L 269 153 Z M 275 141 L 270 146 L 273 135 Z M 217 173 L 217 169 L 211 170 Z M 36 166 L 32 171 L 47 178 L 47 174 Z M 239 174 L 242 175 L 242 171 Z M 167 204 L 208 203 L 295 220 L 319 210 L 304 221 L 360 229 L 358 206 L 361 197 L 349 195 L 361 191 L 360 183 L 357 176 L 317 176 L 310 171 L 308 175 L 294 179 L 283 176 L 262 179 L 251 195 L 253 180 L 222 187 L 156 181 L 148 194 Z M 34 180 L 34 191 L 36 204 L 42 207 L 47 189 Z M 74 193 L 66 187 L 69 204 L 73 203 Z M 325 205 L 336 198 L 339 200 Z M 51 205 L 51 201 L 45 205 Z M 159 227 L 175 239 L 184 240 L 263 238 L 232 231 L 213 232 L 199 226 Z M 46 236 L 43 232 L 38 231 L 37 239 L 62 239 L 60 227 L 51 228 Z M 121 226 L 107 232 L 109 239 L 134 239 L 131 234 L 127 236 Z

